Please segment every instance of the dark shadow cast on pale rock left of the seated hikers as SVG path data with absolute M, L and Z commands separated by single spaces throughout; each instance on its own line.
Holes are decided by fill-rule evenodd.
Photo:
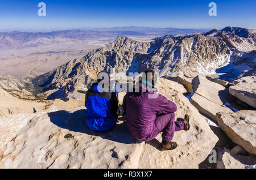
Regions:
M 117 123 L 115 127 L 108 132 L 92 131 L 85 122 L 86 109 L 77 110 L 76 112 L 67 112 L 60 110 L 48 113 L 50 121 L 61 128 L 69 131 L 81 132 L 88 135 L 100 136 L 103 139 L 112 140 L 118 143 L 134 144 L 137 141 L 130 135 L 126 123 Z

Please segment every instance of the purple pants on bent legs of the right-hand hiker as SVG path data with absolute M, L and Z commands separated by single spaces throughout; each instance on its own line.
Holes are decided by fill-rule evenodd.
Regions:
M 174 132 L 183 130 L 183 128 L 184 123 L 181 121 L 175 121 L 174 113 L 160 115 L 155 119 L 155 127 L 150 135 L 150 139 L 154 139 L 160 131 L 163 132 L 163 140 L 171 142 L 172 138 L 174 138 Z

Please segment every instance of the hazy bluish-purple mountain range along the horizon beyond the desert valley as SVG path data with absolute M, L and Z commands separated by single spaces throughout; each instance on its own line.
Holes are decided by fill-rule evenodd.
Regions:
M 91 30 L 67 30 L 51 32 L 0 32 L 0 49 L 31 48 L 43 45 L 68 44 L 84 40 L 115 38 L 117 36 L 159 37 L 166 34 L 207 32 L 209 29 L 122 27 Z

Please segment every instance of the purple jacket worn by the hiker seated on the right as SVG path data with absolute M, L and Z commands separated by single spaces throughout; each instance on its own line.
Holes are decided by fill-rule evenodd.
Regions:
M 140 84 L 142 88 L 145 88 Z M 154 96 L 155 98 L 148 98 Z M 123 98 L 127 127 L 138 140 L 148 139 L 155 127 L 156 114 L 169 114 L 177 110 L 174 102 L 154 92 L 127 93 Z

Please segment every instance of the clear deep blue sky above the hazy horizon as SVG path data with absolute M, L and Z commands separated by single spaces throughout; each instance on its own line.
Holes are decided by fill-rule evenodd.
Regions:
M 46 3 L 46 16 L 38 16 L 38 3 Z M 208 4 L 217 4 L 217 16 L 209 16 Z M 56 30 L 123 26 L 256 28 L 256 1 L 162 0 L 1 0 L 0 31 Z

